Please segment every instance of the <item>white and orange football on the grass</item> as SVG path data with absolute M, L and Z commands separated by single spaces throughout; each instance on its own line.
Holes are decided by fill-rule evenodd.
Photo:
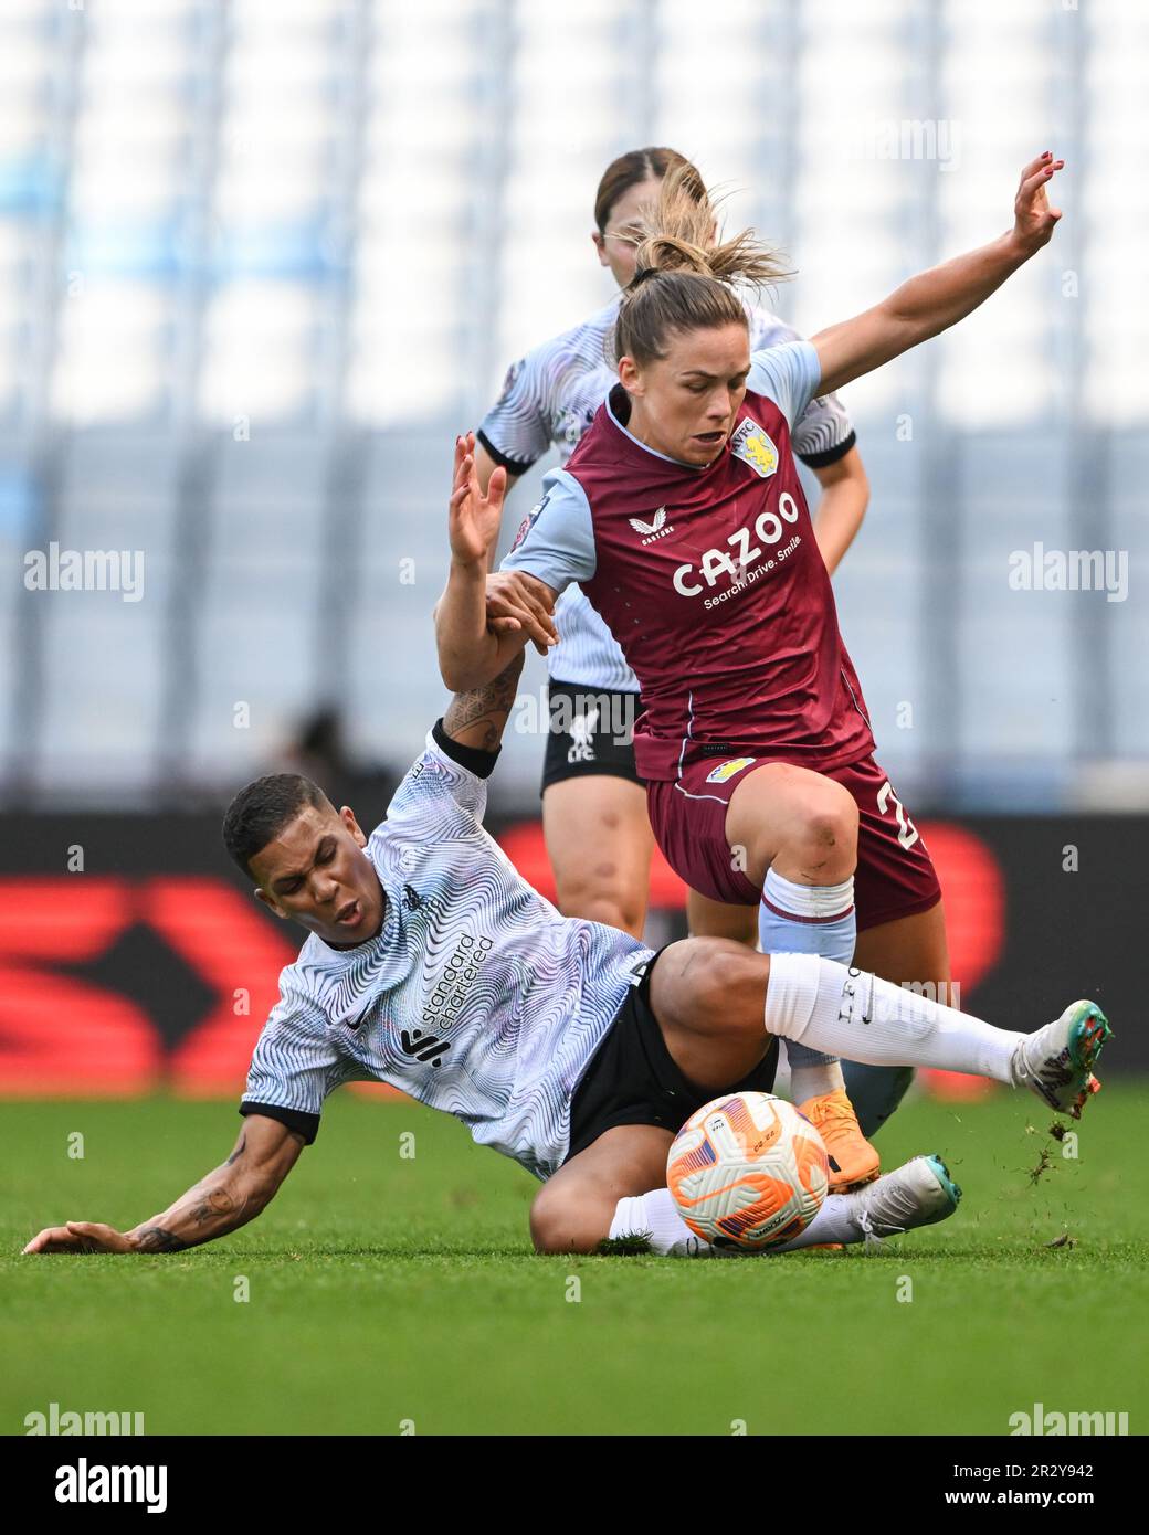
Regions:
M 828 1179 L 822 1136 L 773 1093 L 704 1104 L 667 1157 L 667 1187 L 690 1230 L 711 1246 L 750 1253 L 805 1231 Z

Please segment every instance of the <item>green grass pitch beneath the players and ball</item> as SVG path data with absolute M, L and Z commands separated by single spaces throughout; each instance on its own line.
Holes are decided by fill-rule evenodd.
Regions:
M 445 1116 L 336 1094 L 255 1223 L 71 1259 L 18 1253 L 43 1225 L 163 1210 L 224 1160 L 235 1107 L 6 1104 L 0 1423 L 57 1401 L 143 1412 L 149 1435 L 997 1435 L 1040 1401 L 1143 1434 L 1147 1111 L 1149 1084 L 1111 1082 L 1074 1160 L 1028 1096 L 906 1104 L 885 1165 L 939 1150 L 966 1197 L 877 1253 L 539 1259 L 533 1179 Z

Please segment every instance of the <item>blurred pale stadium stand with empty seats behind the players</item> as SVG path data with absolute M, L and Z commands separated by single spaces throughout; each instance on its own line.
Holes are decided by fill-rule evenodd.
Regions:
M 1051 250 L 848 391 L 873 503 L 837 589 L 911 804 L 1144 807 L 1146 64 L 1137 0 L 727 0 L 717 25 L 696 0 L 5 0 L 5 803 L 203 803 L 332 701 L 404 764 L 442 700 L 453 434 L 610 298 L 598 177 L 671 143 L 791 253 L 806 330 L 1003 230 L 1023 161 L 1066 157 Z M 932 157 L 883 155 L 906 123 Z M 52 540 L 143 550 L 143 600 L 26 591 Z M 1034 542 L 1127 550 L 1131 599 L 1012 591 Z M 539 763 L 512 731 L 504 804 Z

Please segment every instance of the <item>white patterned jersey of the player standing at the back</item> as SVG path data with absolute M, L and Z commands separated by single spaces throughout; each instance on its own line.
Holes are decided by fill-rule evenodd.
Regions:
M 507 373 L 502 394 L 487 411 L 478 439 L 512 474 L 524 474 L 551 447 L 562 464 L 579 445 L 618 373 L 608 348 L 621 295 L 604 310 L 535 347 Z M 767 352 L 799 333 L 768 309 L 747 304 L 750 350 Z M 794 425 L 794 453 L 822 468 L 854 445 L 854 428 L 837 394 L 813 399 Z M 547 655 L 555 682 L 599 692 L 637 692 L 639 682 L 581 586 L 568 586 L 555 606 L 559 643 Z

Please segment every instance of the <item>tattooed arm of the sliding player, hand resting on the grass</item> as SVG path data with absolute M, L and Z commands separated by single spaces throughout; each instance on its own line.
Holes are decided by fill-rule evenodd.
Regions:
M 270 1203 L 304 1139 L 266 1114 L 247 1114 L 235 1150 L 160 1216 L 131 1231 L 94 1220 L 46 1226 L 25 1253 L 180 1253 L 227 1236 Z

